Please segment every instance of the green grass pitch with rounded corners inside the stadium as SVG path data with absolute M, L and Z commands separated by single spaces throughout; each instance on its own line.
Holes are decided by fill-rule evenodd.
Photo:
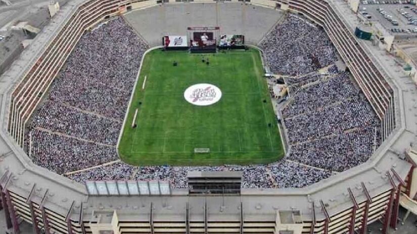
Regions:
M 284 156 L 259 52 L 205 54 L 210 65 L 201 62 L 202 56 L 159 49 L 146 55 L 119 144 L 122 160 L 222 165 L 269 163 Z M 208 106 L 187 102 L 184 91 L 198 83 L 220 88 L 221 99 Z M 136 108 L 137 128 L 132 128 Z M 210 153 L 194 153 L 194 148 L 210 148 Z

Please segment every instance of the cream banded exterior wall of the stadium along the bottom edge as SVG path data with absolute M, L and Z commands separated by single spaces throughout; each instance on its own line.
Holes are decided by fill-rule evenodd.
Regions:
M 17 218 L 33 223 L 30 206 L 26 203 L 27 198 L 19 196 L 13 192 L 10 193 L 11 202 L 13 208 L 16 212 Z M 367 224 L 372 223 L 386 215 L 386 210 L 389 205 L 391 198 L 392 190 L 383 192 L 372 198 L 372 202 L 369 203 L 369 208 L 367 211 Z M 352 203 L 353 204 L 353 203 Z M 359 230 L 362 227 L 362 222 L 364 220 L 365 206 L 366 202 L 360 202 L 358 204 L 358 209 L 355 212 L 355 229 Z M 250 218 L 248 220 L 245 218 L 245 212 L 242 213 L 243 217 L 241 220 L 237 218 L 236 220 L 230 220 L 229 214 L 216 214 L 215 219 L 210 219 L 210 217 L 204 218 L 205 215 L 184 215 L 183 220 L 159 220 L 151 217 L 152 213 L 147 214 L 149 219 L 145 220 L 134 220 L 130 218 L 129 220 L 122 220 L 117 217 L 117 210 L 109 211 L 113 213 L 112 222 L 107 224 L 98 224 L 97 221 L 92 220 L 94 217 L 85 215 L 83 217 L 83 226 L 85 232 L 82 231 L 81 224 L 75 220 L 66 221 L 66 217 L 63 214 L 57 213 L 53 210 L 49 210 L 46 207 L 40 207 L 39 204 L 32 202 L 34 217 L 37 220 L 37 226 L 39 229 L 44 228 L 44 221 L 48 223 L 50 233 L 70 233 L 69 226 L 71 227 L 72 233 L 95 233 L 95 231 L 100 230 L 101 228 L 108 229 L 113 227 L 114 230 L 117 230 L 120 234 L 123 233 L 241 233 L 241 230 L 244 233 L 264 233 L 264 234 L 274 234 L 276 227 L 282 225 L 276 222 L 276 219 L 266 220 L 260 218 L 259 220 L 254 220 Z M 42 211 L 43 209 L 43 211 Z M 319 212 L 320 208 L 315 208 L 316 213 Z M 182 212 L 182 211 L 179 211 Z M 304 220 L 302 224 L 301 233 L 348 233 L 353 217 L 354 210 L 353 206 L 349 209 L 343 210 L 330 217 L 330 222 L 326 230 L 326 220 L 316 220 L 313 232 L 311 232 L 311 220 Z M 94 216 L 94 215 L 93 215 Z M 187 221 L 188 220 L 188 221 Z M 70 223 L 70 225 L 68 225 Z M 297 227 L 298 229 L 298 227 Z M 187 231 L 188 230 L 188 231 Z M 116 233 L 116 232 L 115 232 Z

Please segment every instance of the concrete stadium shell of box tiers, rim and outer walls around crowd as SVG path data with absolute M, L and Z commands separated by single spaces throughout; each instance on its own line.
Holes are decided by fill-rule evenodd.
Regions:
M 377 220 L 384 233 L 395 228 L 400 202 L 412 203 L 417 192 L 417 151 L 412 147 L 417 92 L 410 79 L 387 69 L 389 60 L 380 50 L 354 36 L 353 13 L 326 0 L 175 2 L 71 1 L 3 74 L 0 194 L 7 224 L 16 232 L 23 220 L 35 233 L 74 234 L 366 233 L 366 225 Z M 103 182 L 103 191 L 99 182 L 88 188 L 35 165 L 22 149 L 26 123 L 83 32 L 112 16 L 136 10 L 146 14 L 170 4 L 256 6 L 268 14 L 301 14 L 322 26 L 381 120 L 381 146 L 367 162 L 311 186 L 242 189 L 238 195 L 195 195 L 158 183 L 148 183 L 148 193 L 141 194 L 144 185 L 130 182 Z M 254 44 L 260 39 L 247 37 Z

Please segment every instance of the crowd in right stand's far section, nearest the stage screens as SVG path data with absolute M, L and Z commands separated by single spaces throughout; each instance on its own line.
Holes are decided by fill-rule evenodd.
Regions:
M 337 60 L 326 32 L 294 15 L 272 29 L 259 47 L 270 70 L 280 75 L 307 74 Z

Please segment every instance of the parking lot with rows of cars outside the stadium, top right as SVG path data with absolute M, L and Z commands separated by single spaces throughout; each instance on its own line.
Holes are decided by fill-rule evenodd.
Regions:
M 412 9 L 415 9 L 412 11 Z M 417 8 L 411 4 L 361 4 L 358 14 L 370 16 L 394 35 L 417 36 Z M 408 17 L 408 19 L 407 19 Z M 369 18 L 369 17 L 368 17 Z M 412 24 L 412 20 L 416 20 Z

